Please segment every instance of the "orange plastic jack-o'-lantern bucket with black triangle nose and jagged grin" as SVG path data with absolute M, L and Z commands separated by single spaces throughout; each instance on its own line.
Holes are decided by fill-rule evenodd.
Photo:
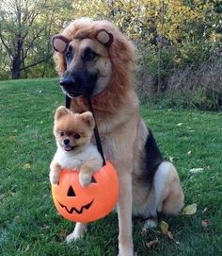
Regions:
M 86 187 L 79 183 L 78 173 L 64 169 L 59 183 L 52 185 L 57 211 L 74 222 L 90 222 L 110 213 L 119 196 L 119 180 L 113 165 L 106 162 Z

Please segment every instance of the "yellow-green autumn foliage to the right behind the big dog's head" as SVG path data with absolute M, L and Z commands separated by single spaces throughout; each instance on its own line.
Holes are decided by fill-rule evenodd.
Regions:
M 110 19 L 137 44 L 140 53 L 139 93 L 142 97 L 152 97 L 156 93 L 158 94 L 155 96 L 159 96 L 159 93 L 166 92 L 169 88 L 171 93 L 173 84 L 170 81 L 178 73 L 190 70 L 190 74 L 186 76 L 191 77 L 190 75 L 203 69 L 209 60 L 212 63 L 221 60 L 222 8 L 217 1 L 79 0 L 74 6 L 77 17 L 90 14 L 94 18 Z M 216 74 L 221 70 L 221 66 L 218 66 Z M 204 71 L 203 77 L 211 77 L 210 70 Z M 222 81 L 217 78 L 216 85 L 212 77 L 206 89 L 197 78 L 196 83 L 194 79 L 188 81 L 189 87 L 183 84 L 183 87 L 174 88 L 180 91 L 178 95 L 187 89 L 192 91 L 187 92 L 187 95 L 196 95 L 192 98 L 192 103 L 185 100 L 185 97 L 181 101 L 188 106 L 217 110 L 221 105 L 222 91 L 214 90 L 214 87 L 221 88 Z M 147 89 L 148 87 L 150 88 Z M 168 99 L 168 94 L 166 98 Z

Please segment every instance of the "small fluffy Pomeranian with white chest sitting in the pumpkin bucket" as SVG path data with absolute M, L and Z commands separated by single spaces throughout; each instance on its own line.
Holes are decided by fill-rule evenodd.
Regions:
M 103 166 L 97 147 L 90 143 L 95 120 L 90 111 L 73 113 L 61 106 L 55 114 L 56 155 L 50 164 L 50 182 L 58 183 L 62 168 L 78 169 L 79 182 L 87 186 L 93 173 Z

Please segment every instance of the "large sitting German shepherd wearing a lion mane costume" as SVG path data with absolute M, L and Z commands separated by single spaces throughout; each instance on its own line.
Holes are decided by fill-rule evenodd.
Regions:
M 156 226 L 158 213 L 177 214 L 183 205 L 177 171 L 139 116 L 135 46 L 112 23 L 87 18 L 71 22 L 52 44 L 71 111 L 88 111 L 85 95 L 91 94 L 104 154 L 119 174 L 119 256 L 132 256 L 132 214 Z M 85 230 L 77 223 L 67 242 Z

